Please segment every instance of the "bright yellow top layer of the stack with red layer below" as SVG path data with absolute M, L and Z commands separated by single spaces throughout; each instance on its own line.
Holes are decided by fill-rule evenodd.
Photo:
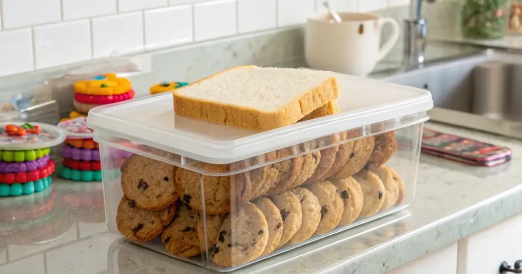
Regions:
M 74 84 L 74 92 L 89 95 L 117 95 L 131 89 L 127 78 L 117 77 L 113 73 L 100 75 L 91 80 L 82 80 Z

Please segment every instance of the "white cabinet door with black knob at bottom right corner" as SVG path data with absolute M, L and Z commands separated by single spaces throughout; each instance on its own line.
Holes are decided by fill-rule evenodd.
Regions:
M 522 260 L 522 215 L 461 239 L 458 274 L 498 274 L 502 261 Z

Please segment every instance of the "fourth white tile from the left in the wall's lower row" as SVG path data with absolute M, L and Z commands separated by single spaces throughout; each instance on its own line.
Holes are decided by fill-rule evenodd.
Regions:
M 192 42 L 192 6 L 145 11 L 145 45 L 148 48 Z

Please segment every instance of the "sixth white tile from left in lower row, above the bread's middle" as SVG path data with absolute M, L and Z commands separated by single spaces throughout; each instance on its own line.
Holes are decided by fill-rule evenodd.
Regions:
M 238 0 L 240 33 L 276 27 L 276 0 Z

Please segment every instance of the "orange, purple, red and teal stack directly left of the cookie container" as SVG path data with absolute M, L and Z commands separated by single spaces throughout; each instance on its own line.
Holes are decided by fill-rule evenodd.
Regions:
M 62 121 L 58 127 L 67 131 L 58 176 L 80 182 L 101 182 L 99 145 L 92 139 L 92 129 L 87 127 L 87 118 Z

